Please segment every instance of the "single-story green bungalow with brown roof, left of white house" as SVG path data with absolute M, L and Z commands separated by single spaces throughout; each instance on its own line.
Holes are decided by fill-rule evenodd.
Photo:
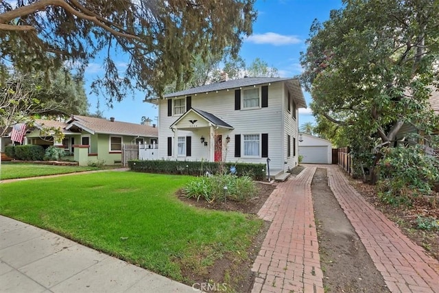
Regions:
M 47 128 L 60 128 L 64 139 L 46 133 Z M 157 143 L 158 129 L 153 126 L 73 115 L 66 122 L 36 119 L 34 128 L 28 130 L 26 143 L 58 145 L 73 155 L 80 165 L 89 161 L 103 161 L 105 165 L 121 163 L 123 144 Z

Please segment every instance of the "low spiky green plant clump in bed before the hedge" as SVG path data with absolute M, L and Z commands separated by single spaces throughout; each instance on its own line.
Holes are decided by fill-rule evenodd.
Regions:
M 227 187 L 224 192 L 224 187 Z M 235 200 L 244 202 L 256 194 L 257 187 L 248 176 L 238 177 L 233 174 L 218 174 L 194 178 L 185 185 L 183 193 L 187 198 L 203 198 L 207 202 Z M 226 198 L 224 198 L 226 196 Z

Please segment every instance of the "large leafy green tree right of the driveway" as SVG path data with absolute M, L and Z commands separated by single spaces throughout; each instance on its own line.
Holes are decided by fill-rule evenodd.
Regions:
M 403 124 L 427 133 L 438 126 L 428 104 L 438 15 L 438 0 L 345 0 L 311 26 L 302 83 L 313 113 L 344 128 L 357 160 L 370 159 L 374 145 L 392 146 Z

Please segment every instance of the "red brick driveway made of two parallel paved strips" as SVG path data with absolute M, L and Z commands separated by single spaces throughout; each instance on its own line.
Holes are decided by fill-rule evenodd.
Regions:
M 335 165 L 305 165 L 279 183 L 258 215 L 271 223 L 254 261 L 252 292 L 324 292 L 311 198 L 317 167 L 391 292 L 439 293 L 439 262 L 362 198 Z

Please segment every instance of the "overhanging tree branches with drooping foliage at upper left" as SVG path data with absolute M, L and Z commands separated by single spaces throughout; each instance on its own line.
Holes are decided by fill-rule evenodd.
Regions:
M 254 1 L 0 1 L 0 59 L 20 71 L 68 63 L 83 73 L 103 54 L 105 73 L 93 86 L 109 102 L 133 87 L 160 95 L 165 84 L 189 80 L 195 56 L 226 48 L 235 56 L 252 32 Z M 123 75 L 119 51 L 129 58 Z

